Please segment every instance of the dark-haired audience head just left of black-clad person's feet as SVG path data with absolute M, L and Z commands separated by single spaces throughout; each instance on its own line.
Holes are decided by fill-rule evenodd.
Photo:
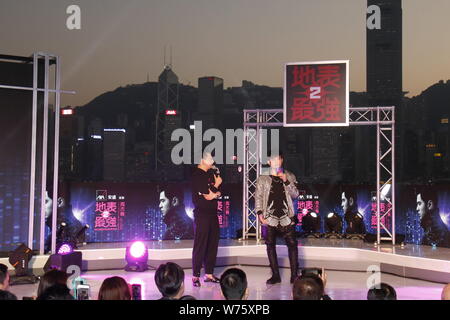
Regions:
M 184 293 L 184 271 L 173 262 L 161 264 L 155 272 L 155 283 L 164 298 L 179 299 Z

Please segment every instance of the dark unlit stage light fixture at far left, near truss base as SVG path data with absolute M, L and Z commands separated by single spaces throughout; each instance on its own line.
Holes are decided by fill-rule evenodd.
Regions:
M 37 277 L 28 270 L 28 263 L 32 256 L 33 252 L 24 243 L 21 243 L 14 251 L 9 252 L 9 263 L 15 269 L 15 275 L 11 277 L 11 285 L 37 282 Z

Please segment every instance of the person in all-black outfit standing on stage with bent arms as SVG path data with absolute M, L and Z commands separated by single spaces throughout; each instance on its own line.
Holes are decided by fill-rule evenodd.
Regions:
M 217 217 L 217 198 L 222 178 L 212 168 L 214 159 L 204 153 L 192 173 L 192 202 L 194 203 L 194 248 L 192 250 L 192 283 L 200 287 L 200 269 L 205 267 L 205 282 L 219 283 L 214 276 L 220 228 Z

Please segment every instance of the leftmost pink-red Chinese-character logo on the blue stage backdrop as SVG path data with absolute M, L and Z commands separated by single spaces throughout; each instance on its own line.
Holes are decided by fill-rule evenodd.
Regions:
M 125 217 L 125 197 L 97 190 L 95 201 L 95 231 L 122 230 Z

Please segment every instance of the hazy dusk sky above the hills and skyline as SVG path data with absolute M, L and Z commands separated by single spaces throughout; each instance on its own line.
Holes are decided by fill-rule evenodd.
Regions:
M 81 30 L 66 8 L 81 7 Z M 282 85 L 285 62 L 350 59 L 351 90 L 366 88 L 366 0 L 1 0 L 0 53 L 62 58 L 63 83 L 84 105 L 105 91 L 156 81 L 164 46 L 184 84 L 215 75 Z M 403 0 L 404 91 L 450 78 L 450 1 Z M 168 50 L 169 51 L 169 50 Z

